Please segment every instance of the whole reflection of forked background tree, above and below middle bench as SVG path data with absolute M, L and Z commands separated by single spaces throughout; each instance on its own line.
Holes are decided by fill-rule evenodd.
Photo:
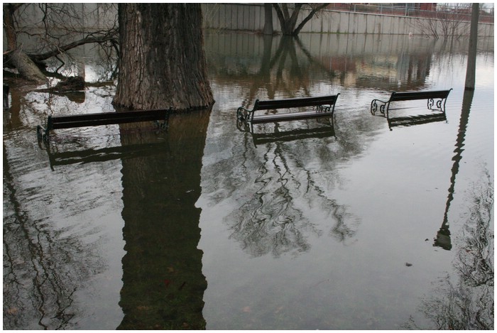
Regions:
M 271 55 L 273 43 L 271 36 L 264 37 L 259 70 L 246 80 L 249 87 L 244 107 L 250 107 L 257 97 L 299 97 L 302 92 L 309 96 L 309 67 L 318 68 L 328 80 L 334 77 L 333 71 L 313 58 L 300 40 L 281 38 Z M 297 57 L 297 49 L 304 55 L 302 58 Z M 263 96 L 258 96 L 261 93 Z M 264 124 L 254 132 L 286 133 L 302 126 L 302 121 Z M 209 177 L 202 177 L 202 187 L 204 192 L 214 194 L 210 199 L 219 203 L 236 197 L 240 203 L 224 217 L 224 222 L 242 249 L 251 256 L 297 255 L 310 249 L 310 235 L 322 236 L 324 229 L 329 228 L 329 234 L 342 242 L 354 236 L 359 221 L 329 192 L 340 182 L 335 165 L 349 155 L 359 154 L 364 143 L 361 132 L 341 135 L 292 142 L 275 140 L 254 147 L 251 134 L 246 133 L 241 141 L 234 142 L 234 153 L 229 158 L 218 156 L 217 163 L 204 165 L 204 174 Z M 229 141 L 227 135 L 225 140 Z

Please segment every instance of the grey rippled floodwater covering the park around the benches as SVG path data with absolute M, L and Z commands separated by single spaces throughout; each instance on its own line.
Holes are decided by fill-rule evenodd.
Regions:
M 493 39 L 474 92 L 467 45 L 207 33 L 212 110 L 49 149 L 48 115 L 114 110 L 109 67 L 88 48 L 84 93 L 11 87 L 4 329 L 493 329 Z M 442 119 L 370 112 L 435 89 Z M 338 93 L 332 121 L 236 124 L 257 98 Z

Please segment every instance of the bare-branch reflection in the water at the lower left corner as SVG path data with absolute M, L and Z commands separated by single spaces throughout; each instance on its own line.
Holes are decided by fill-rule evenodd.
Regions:
M 4 328 L 71 329 L 79 315 L 74 293 L 103 270 L 102 262 L 92 244 L 28 216 L 5 162 L 4 147 L 4 195 L 12 203 L 4 205 Z

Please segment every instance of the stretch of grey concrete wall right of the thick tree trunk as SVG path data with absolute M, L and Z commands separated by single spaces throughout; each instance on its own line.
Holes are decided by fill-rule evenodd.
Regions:
M 262 31 L 264 27 L 263 4 L 202 4 L 204 27 L 214 30 Z M 307 16 L 302 10 L 300 21 Z M 302 33 L 364 33 L 364 34 L 426 34 L 426 26 L 435 24 L 443 36 L 441 23 L 429 18 L 321 11 L 302 29 Z M 278 16 L 273 9 L 273 29 L 280 32 Z M 469 36 L 469 22 L 460 23 L 457 35 Z M 493 37 L 493 23 L 480 23 L 479 36 Z

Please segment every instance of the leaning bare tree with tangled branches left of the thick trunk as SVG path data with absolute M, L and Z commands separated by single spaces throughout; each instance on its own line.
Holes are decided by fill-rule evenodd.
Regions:
M 84 5 L 4 4 L 4 67 L 16 69 L 27 80 L 43 83 L 47 75 L 43 62 L 49 58 L 55 57 L 63 64 L 60 55 L 88 43 L 102 46 L 107 53 L 118 50 L 116 11 L 112 10 L 115 5 L 95 4 L 92 9 Z M 106 17 L 104 26 L 99 24 L 99 16 Z

